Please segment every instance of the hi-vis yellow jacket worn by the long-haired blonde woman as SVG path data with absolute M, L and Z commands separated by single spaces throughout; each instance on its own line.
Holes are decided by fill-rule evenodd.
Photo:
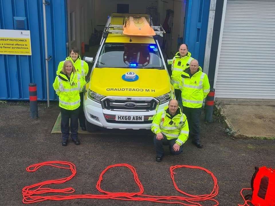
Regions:
M 85 81 L 80 74 L 73 73 L 70 79 L 62 72 L 56 76 L 52 85 L 59 97 L 59 106 L 66 110 L 75 110 L 80 106 L 79 92 L 85 86 Z

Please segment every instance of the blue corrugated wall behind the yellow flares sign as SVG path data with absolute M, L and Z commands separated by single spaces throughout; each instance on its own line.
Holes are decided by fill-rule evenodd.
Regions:
M 48 0 L 46 5 L 50 99 L 58 63 L 66 57 L 66 0 Z M 13 17 L 26 17 L 31 34 L 32 56 L 0 54 L 0 99 L 28 100 L 28 84 L 37 84 L 39 100 L 47 99 L 42 0 L 0 0 L 0 29 L 14 29 Z

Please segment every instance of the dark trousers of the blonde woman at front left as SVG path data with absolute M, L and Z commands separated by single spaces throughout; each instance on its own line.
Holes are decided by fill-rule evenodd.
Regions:
M 60 108 L 61 112 L 61 132 L 62 139 L 67 140 L 69 138 L 69 134 L 71 130 L 71 138 L 77 138 L 77 130 L 78 130 L 78 108 L 75 110 L 66 110 Z M 71 119 L 70 128 L 69 128 L 69 119 Z

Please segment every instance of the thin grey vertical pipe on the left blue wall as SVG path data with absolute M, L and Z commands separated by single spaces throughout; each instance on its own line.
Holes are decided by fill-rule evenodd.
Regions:
M 44 41 L 45 41 L 45 59 L 46 59 L 46 81 L 47 81 L 47 103 L 48 107 L 50 107 L 50 88 L 49 88 L 49 68 L 48 68 L 48 47 L 47 47 L 47 25 L 46 25 L 46 9 L 45 5 L 48 5 L 47 1 L 43 0 L 43 19 L 44 19 Z

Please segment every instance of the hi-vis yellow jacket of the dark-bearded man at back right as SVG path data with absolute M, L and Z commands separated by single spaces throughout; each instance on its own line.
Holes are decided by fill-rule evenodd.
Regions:
M 184 57 L 180 57 L 180 53 L 177 52 L 172 60 L 168 60 L 168 64 L 172 64 L 171 78 L 174 82 L 174 89 L 180 89 L 181 73 L 189 66 L 193 59 L 191 53 L 188 51 L 187 55 Z

